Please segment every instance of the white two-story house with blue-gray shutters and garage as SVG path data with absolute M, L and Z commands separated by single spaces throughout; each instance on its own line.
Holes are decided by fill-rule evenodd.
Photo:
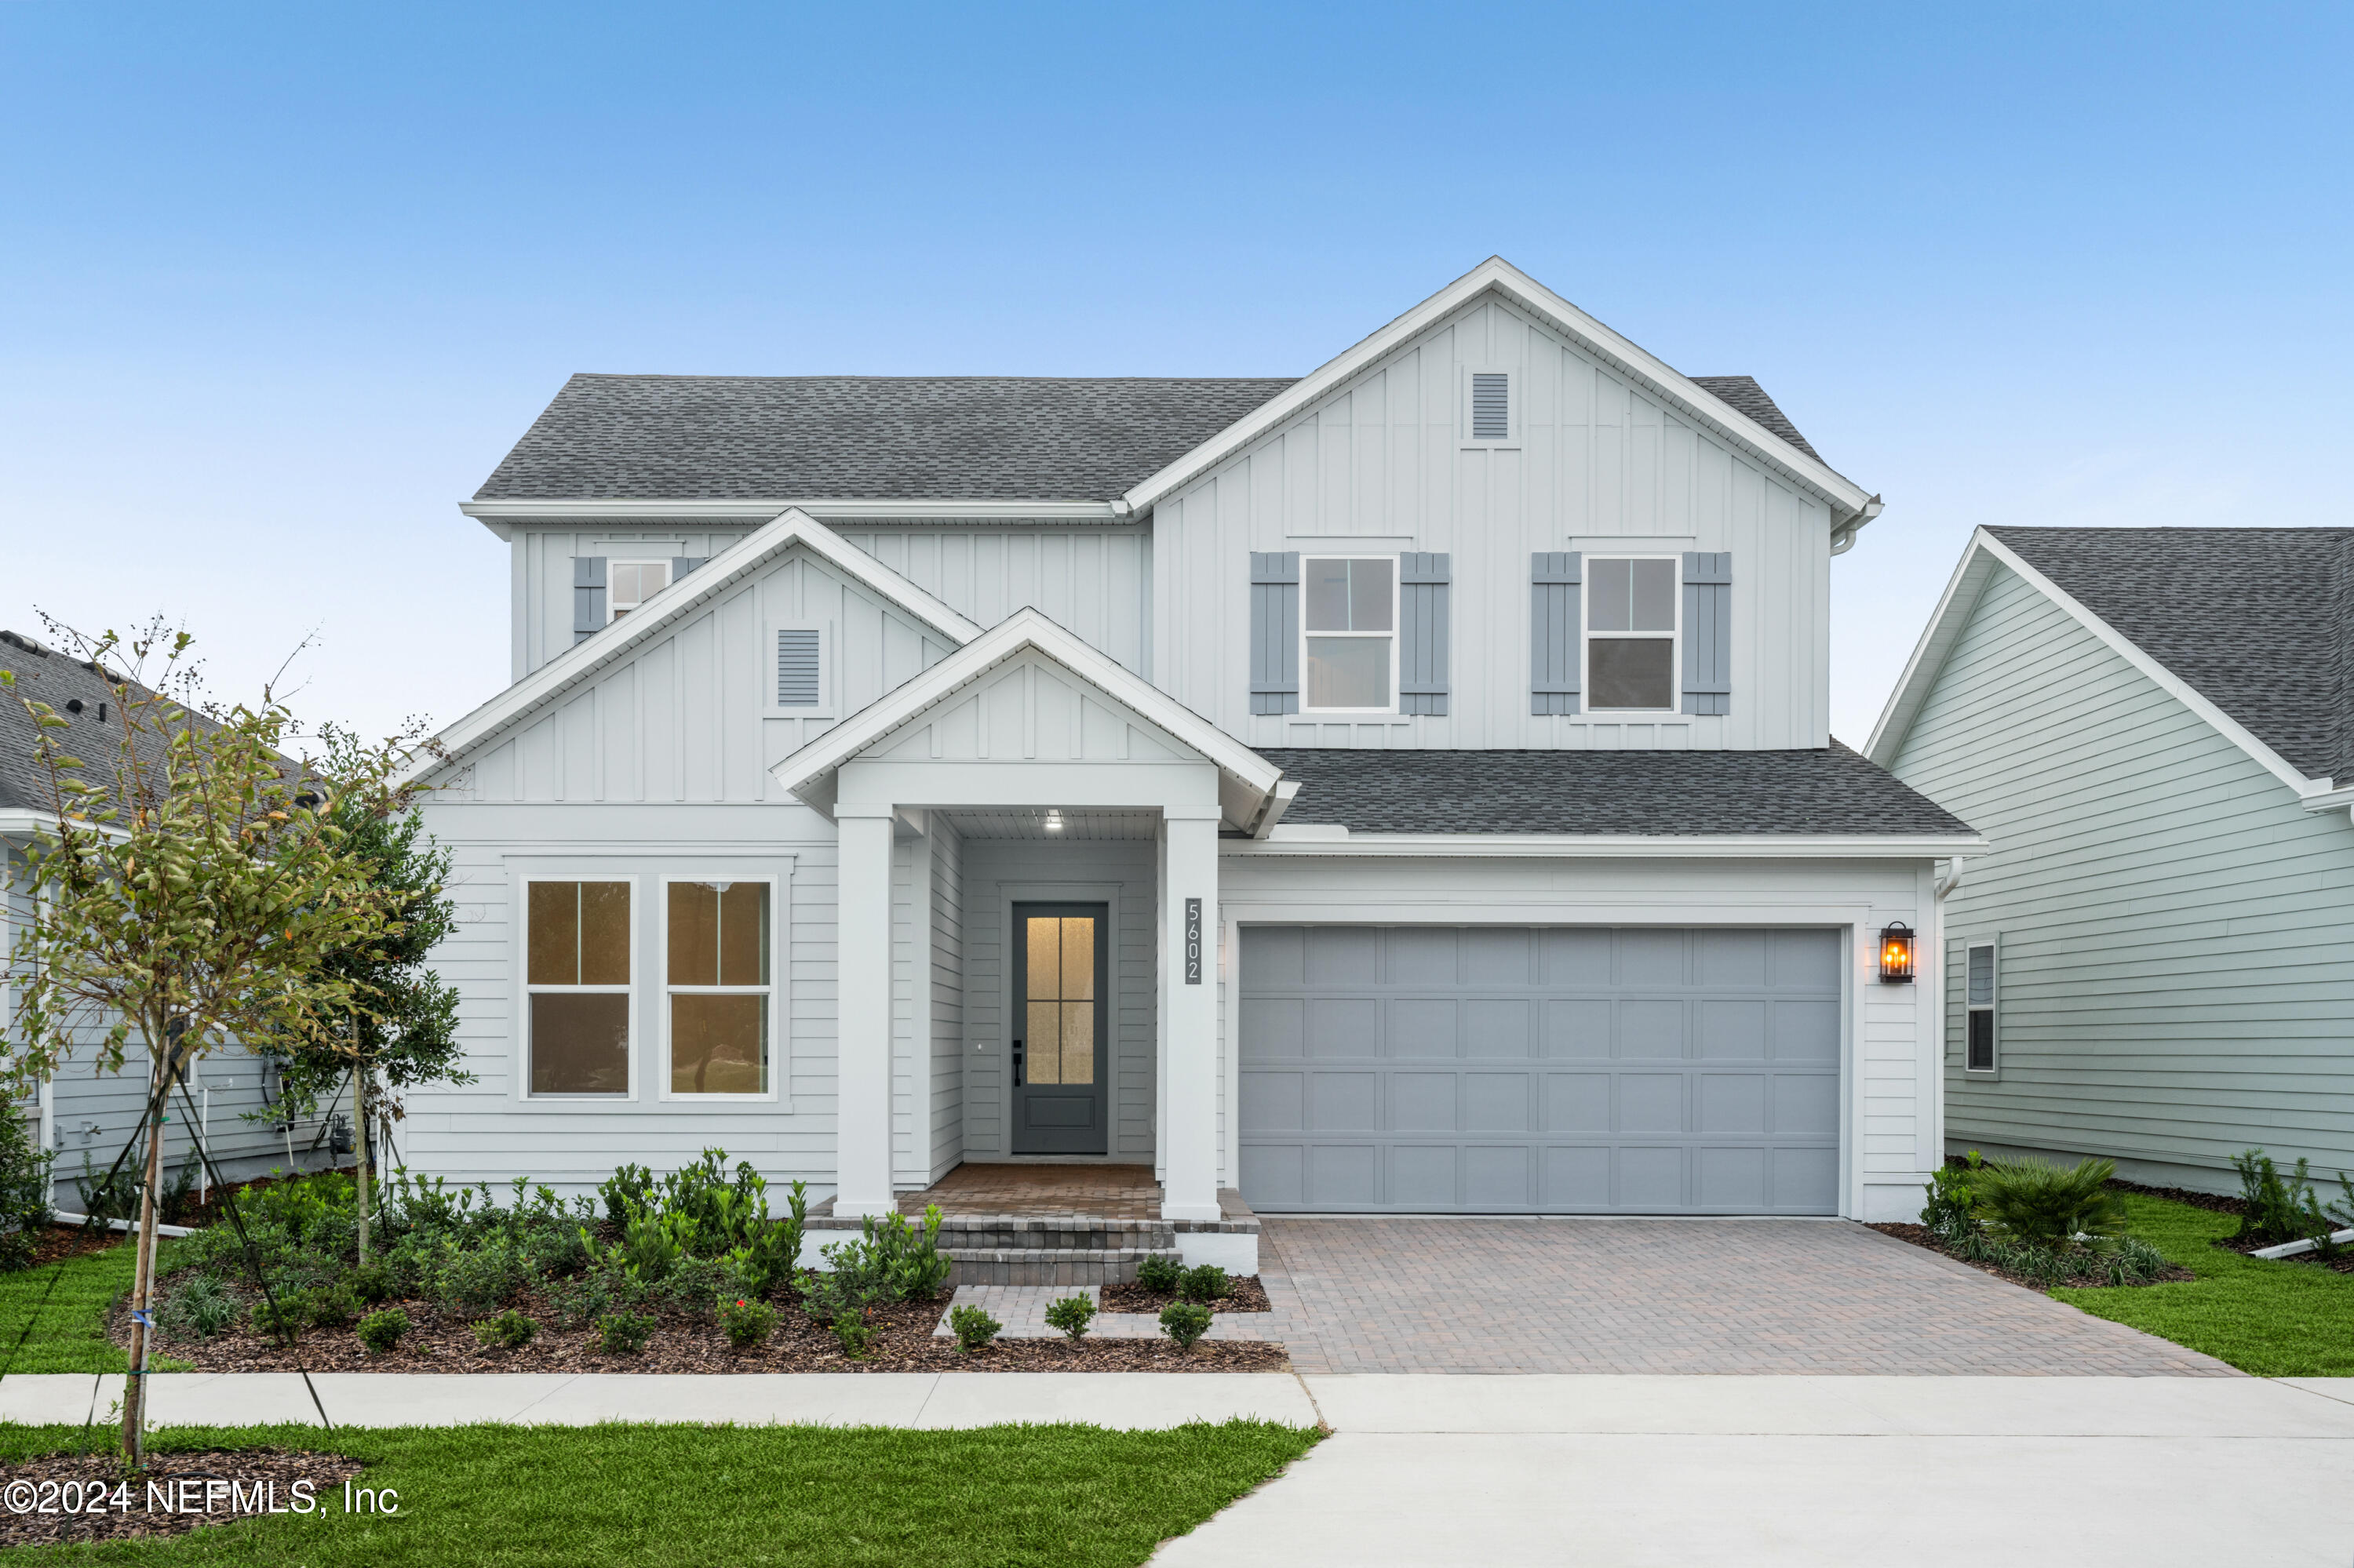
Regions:
M 1933 866 L 1829 737 L 1878 499 L 1504 261 L 1290 379 L 581 374 L 464 504 L 464 1090 L 412 1163 L 1909 1217 Z

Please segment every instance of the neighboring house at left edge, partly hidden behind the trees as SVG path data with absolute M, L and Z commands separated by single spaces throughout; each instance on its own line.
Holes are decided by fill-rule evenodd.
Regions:
M 33 918 L 31 890 L 26 883 L 26 850 L 45 824 L 56 822 L 49 791 L 49 772 L 38 756 L 40 730 L 26 713 L 21 699 L 49 704 L 71 727 L 64 737 L 80 756 L 92 777 L 113 756 L 115 687 L 99 671 L 80 659 L 45 647 L 16 631 L 0 631 L 0 669 L 14 671 L 16 687 L 0 690 L 0 1041 L 16 1038 L 16 991 L 9 984 L 9 965 L 16 937 Z M 97 1045 L 104 1031 L 89 1029 L 89 1059 L 71 1062 L 56 1071 L 19 1109 L 40 1130 L 40 1144 L 56 1151 L 54 1191 L 64 1210 L 80 1208 L 78 1177 L 85 1161 L 104 1175 L 122 1151 L 122 1144 L 139 1130 L 139 1111 L 146 1104 L 146 1052 L 137 1036 L 120 1074 L 97 1069 Z M 292 1128 L 275 1121 L 245 1121 L 250 1111 L 264 1111 L 275 1099 L 275 1078 L 266 1062 L 242 1048 L 214 1050 L 188 1069 L 188 1095 L 195 1099 L 198 1121 L 214 1163 L 228 1177 L 259 1175 L 287 1163 L 287 1144 L 294 1158 L 315 1170 L 327 1163 L 327 1151 L 313 1154 L 311 1144 L 320 1135 L 320 1121 L 297 1121 Z M 179 1097 L 169 1107 L 165 1125 L 165 1170 L 177 1170 L 195 1161 L 188 1137 L 188 1118 Z M 137 1151 L 127 1163 L 137 1170 Z

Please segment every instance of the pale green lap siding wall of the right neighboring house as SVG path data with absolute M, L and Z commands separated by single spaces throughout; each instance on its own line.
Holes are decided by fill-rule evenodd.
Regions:
M 1893 772 L 1994 845 L 1949 944 L 2001 939 L 1999 1071 L 1963 1071 L 1951 1149 L 2100 1154 L 2236 1191 L 2248 1147 L 2354 1170 L 2354 829 L 2008 567 Z

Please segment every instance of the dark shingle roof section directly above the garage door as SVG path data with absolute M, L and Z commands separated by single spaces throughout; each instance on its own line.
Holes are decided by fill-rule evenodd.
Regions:
M 1822 751 L 1257 749 L 1299 796 L 1285 824 L 1351 833 L 1968 833 L 1831 742 Z

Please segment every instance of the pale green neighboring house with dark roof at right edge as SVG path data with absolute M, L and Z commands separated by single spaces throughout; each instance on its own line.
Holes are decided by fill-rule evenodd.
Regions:
M 2354 530 L 1982 527 L 1869 756 L 1947 899 L 1947 1147 L 2354 1170 Z

